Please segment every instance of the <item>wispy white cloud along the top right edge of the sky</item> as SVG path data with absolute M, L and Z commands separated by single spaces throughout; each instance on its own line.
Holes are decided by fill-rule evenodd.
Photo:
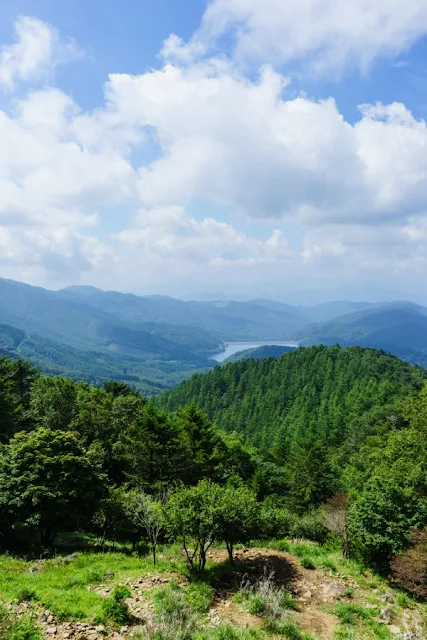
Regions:
M 166 59 L 189 62 L 233 41 L 240 63 L 298 62 L 316 74 L 366 71 L 427 32 L 425 0 L 212 0 L 201 27 L 184 43 L 172 35 Z

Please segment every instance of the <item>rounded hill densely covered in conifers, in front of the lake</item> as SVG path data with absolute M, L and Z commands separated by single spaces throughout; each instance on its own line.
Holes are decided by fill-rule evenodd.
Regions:
M 318 346 L 216 367 L 158 401 L 170 410 L 193 402 L 218 428 L 284 464 L 305 437 L 329 450 L 357 450 L 425 379 L 423 369 L 381 351 Z

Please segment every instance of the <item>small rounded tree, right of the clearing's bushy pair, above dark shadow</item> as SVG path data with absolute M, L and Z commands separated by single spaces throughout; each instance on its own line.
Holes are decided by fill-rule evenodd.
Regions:
M 252 491 L 232 486 L 222 489 L 217 505 L 217 535 L 227 545 L 230 562 L 234 561 L 234 545 L 253 537 L 260 520 L 260 504 Z

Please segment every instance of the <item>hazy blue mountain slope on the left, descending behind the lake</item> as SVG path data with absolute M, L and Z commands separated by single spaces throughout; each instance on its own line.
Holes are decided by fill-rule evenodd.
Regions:
M 0 353 L 92 382 L 170 387 L 213 365 L 227 340 L 286 339 L 304 324 L 287 305 L 183 302 L 74 286 L 48 291 L 0 279 Z

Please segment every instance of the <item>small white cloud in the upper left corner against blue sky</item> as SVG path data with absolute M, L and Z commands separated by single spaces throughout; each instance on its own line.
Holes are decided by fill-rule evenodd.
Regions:
M 44 79 L 57 64 L 82 55 L 74 42 L 61 41 L 55 29 L 37 18 L 18 18 L 15 35 L 14 44 L 0 49 L 0 87 Z

